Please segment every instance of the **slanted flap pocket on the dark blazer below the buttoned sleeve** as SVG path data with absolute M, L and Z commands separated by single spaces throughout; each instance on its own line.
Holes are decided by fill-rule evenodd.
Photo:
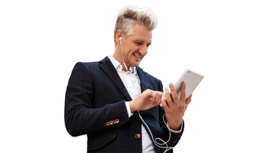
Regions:
M 98 150 L 107 145 L 108 142 L 114 140 L 116 136 L 115 131 L 108 131 L 107 133 L 89 134 L 87 142 L 87 150 Z

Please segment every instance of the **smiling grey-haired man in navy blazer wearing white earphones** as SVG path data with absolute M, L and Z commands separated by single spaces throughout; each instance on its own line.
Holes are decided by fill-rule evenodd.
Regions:
M 65 126 L 87 135 L 87 152 L 173 152 L 191 101 L 173 84 L 139 68 L 151 45 L 157 18 L 148 8 L 124 8 L 114 31 L 115 52 L 99 62 L 78 62 L 65 96 Z M 162 103 L 162 107 L 159 105 Z

